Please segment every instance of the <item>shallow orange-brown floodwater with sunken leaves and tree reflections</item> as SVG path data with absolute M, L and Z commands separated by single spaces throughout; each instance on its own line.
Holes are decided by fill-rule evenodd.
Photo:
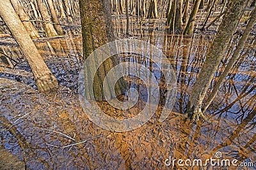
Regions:
M 120 24 L 121 21 L 114 24 L 118 38 L 125 32 L 120 28 L 120 25 L 125 27 L 125 22 Z M 134 20 L 131 29 L 132 34 L 138 34 L 136 38 L 162 49 L 175 70 L 177 100 L 170 116 L 164 122 L 158 121 L 163 109 L 163 104 L 159 104 L 156 114 L 142 127 L 129 132 L 106 131 L 86 117 L 79 103 L 81 36 L 70 34 L 65 38 L 36 42 L 61 84 L 58 90 L 49 94 L 36 92 L 28 64 L 20 57 L 19 48 L 13 47 L 9 52 L 18 62 L 16 71 L 8 67 L 0 70 L 1 152 L 13 160 L 8 166 L 19 159 L 19 169 L 246 169 L 211 166 L 210 162 L 204 166 L 205 160 L 217 159 L 216 153 L 221 152 L 222 156 L 217 159 L 220 162 L 228 159 L 231 164 L 237 159 L 247 165 L 253 162 L 255 167 L 255 48 L 244 49 L 207 110 L 208 120 L 195 125 L 183 113 L 213 35 L 194 34 L 188 38 L 166 34 L 161 20 L 145 23 L 143 27 Z M 230 44 L 209 92 L 230 59 L 236 39 L 234 37 Z M 120 60 L 154 66 L 143 56 L 128 53 L 120 55 Z M 17 75 L 19 80 L 15 78 Z M 160 79 L 161 76 L 161 85 Z M 98 102 L 106 114 L 132 117 L 145 106 L 147 89 L 143 83 L 132 77 L 127 77 L 127 82 L 138 89 L 140 100 L 127 111 Z M 162 94 L 164 99 L 164 84 Z M 125 100 L 127 96 L 119 97 Z M 176 160 L 175 164 L 170 159 Z M 179 159 L 184 160 L 181 164 L 185 164 L 185 160 L 186 164 L 189 160 L 193 164 L 193 160 L 202 159 L 202 166 L 179 166 Z M 1 168 L 3 166 L 1 163 Z

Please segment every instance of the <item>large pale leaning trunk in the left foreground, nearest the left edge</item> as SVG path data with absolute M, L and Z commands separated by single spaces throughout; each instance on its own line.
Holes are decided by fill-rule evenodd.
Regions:
M 2 0 L 2 3 L 0 3 L 0 16 L 10 29 L 10 32 L 28 60 L 29 66 L 35 76 L 38 91 L 44 92 L 53 89 L 58 85 L 58 81 L 46 66 L 44 60 L 36 49 L 35 44 L 20 21 L 20 18 L 15 13 L 10 0 Z

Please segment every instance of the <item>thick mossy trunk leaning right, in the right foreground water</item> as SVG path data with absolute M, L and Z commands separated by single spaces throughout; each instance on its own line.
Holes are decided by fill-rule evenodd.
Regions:
M 204 65 L 202 66 L 195 85 L 193 86 L 191 95 L 189 96 L 187 113 L 188 116 L 194 121 L 204 118 L 201 109 L 205 94 L 207 93 L 220 61 L 223 58 L 223 54 L 230 43 L 232 35 L 236 31 L 246 4 L 247 1 L 244 0 L 234 0 L 228 2 L 227 13 L 225 13 L 220 28 L 218 29 L 214 41 L 212 42 L 209 53 L 206 56 Z

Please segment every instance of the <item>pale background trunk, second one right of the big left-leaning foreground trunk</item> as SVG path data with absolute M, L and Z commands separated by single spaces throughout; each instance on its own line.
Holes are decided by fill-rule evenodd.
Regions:
M 53 37 L 53 36 L 58 36 L 56 30 L 54 29 L 52 22 L 51 22 L 51 17 L 48 13 L 48 10 L 45 6 L 45 4 L 42 2 L 42 0 L 36 0 L 36 3 L 38 4 L 39 11 L 42 15 L 42 19 L 44 20 L 44 29 L 45 29 L 45 34 L 47 37 Z

